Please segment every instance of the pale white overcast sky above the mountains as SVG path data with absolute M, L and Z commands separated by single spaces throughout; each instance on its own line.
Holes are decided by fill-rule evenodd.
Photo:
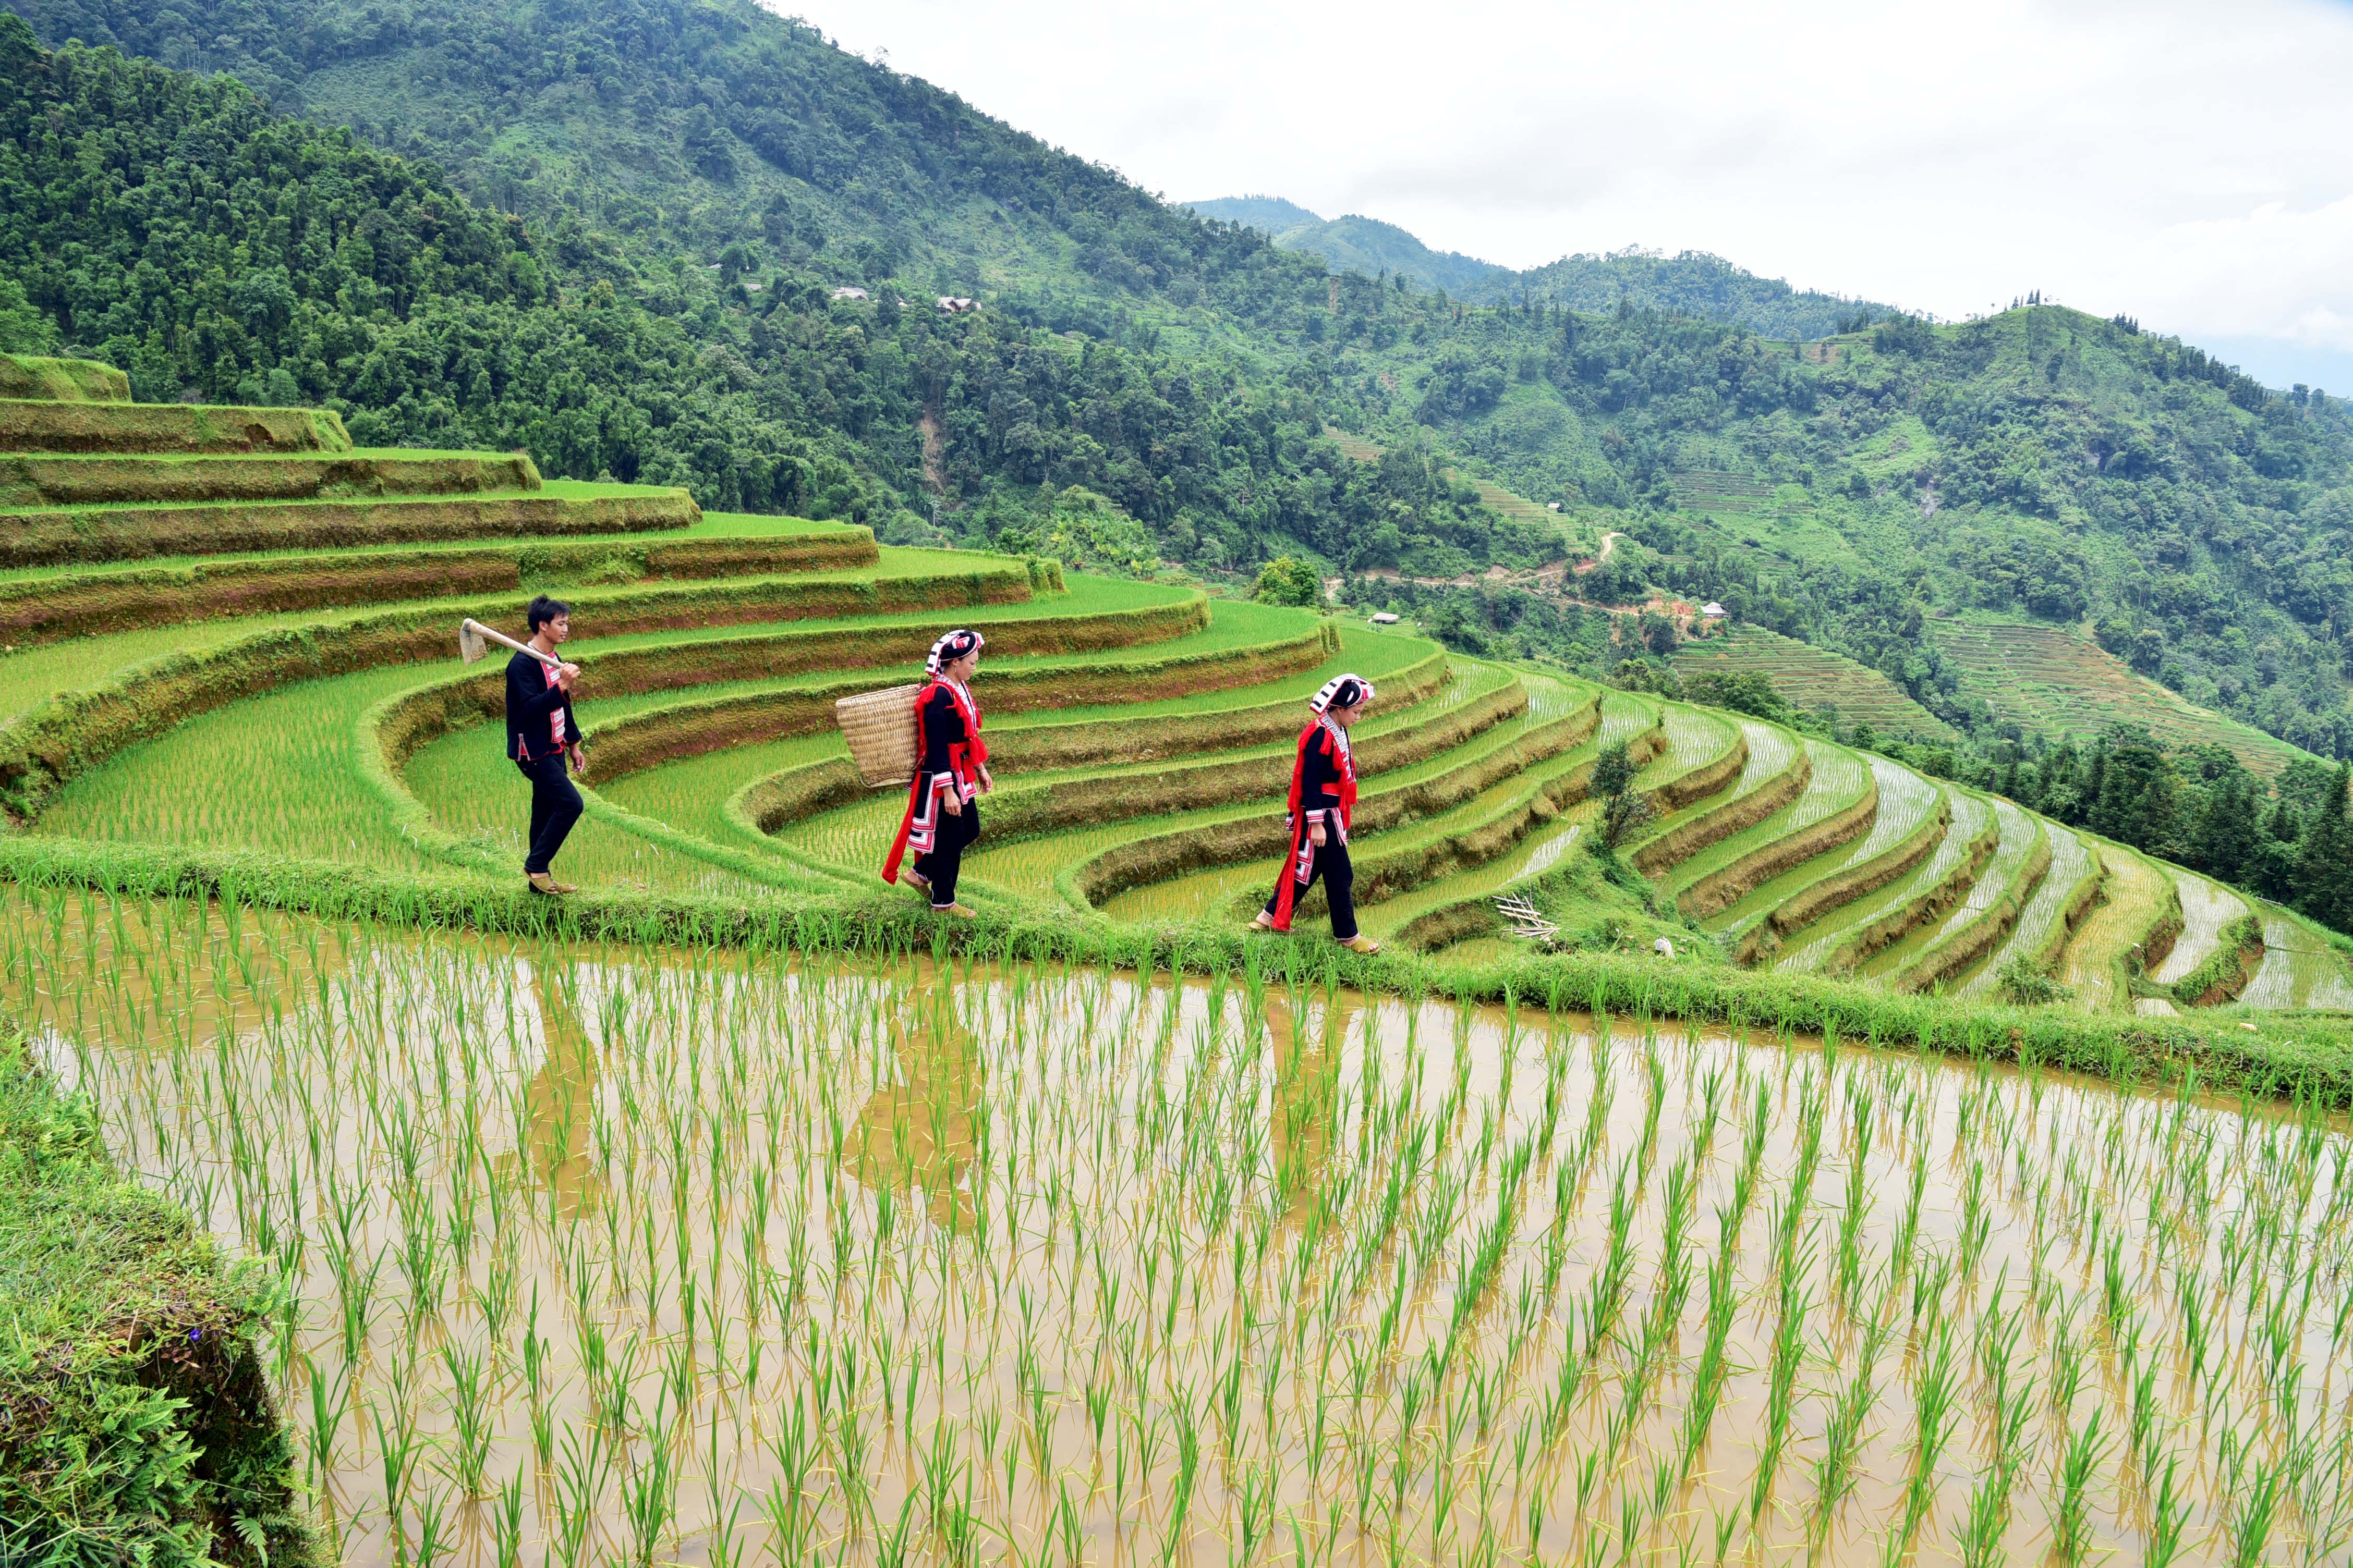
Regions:
M 1941 317 L 2040 287 L 2353 393 L 2353 5 L 772 0 L 1176 200 L 1506 266 L 1649 244 Z

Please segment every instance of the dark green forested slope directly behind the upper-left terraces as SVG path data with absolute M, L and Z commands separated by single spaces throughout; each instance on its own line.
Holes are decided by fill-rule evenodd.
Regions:
M 1257 235 L 1205 254 L 1294 294 Z M 1311 287 L 1313 284 L 1313 287 Z M 428 165 L 273 118 L 228 78 L 45 54 L 0 14 L 0 348 L 120 364 L 146 400 L 325 402 L 360 442 L 527 447 L 553 475 L 689 484 L 706 505 L 918 536 L 1054 529 L 1148 567 L 1344 555 L 1407 522 L 1489 550 L 1497 517 L 1428 458 L 1322 440 L 1301 388 L 1231 360 L 1066 339 L 986 310 L 833 301 L 807 275 L 602 244 L 487 212 Z M 939 433 L 922 473 L 922 421 Z M 1108 529 L 1085 489 L 1151 534 Z M 1108 534 L 1108 536 L 1106 536 Z

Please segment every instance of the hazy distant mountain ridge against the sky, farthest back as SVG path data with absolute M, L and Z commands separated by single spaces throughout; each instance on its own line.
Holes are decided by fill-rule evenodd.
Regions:
M 1282 249 L 1315 252 L 1334 270 L 1365 277 L 1405 273 L 1471 303 L 1518 301 L 1525 294 L 1572 310 L 1614 310 L 1624 299 L 1635 310 L 1739 322 L 1772 339 L 1826 339 L 1840 327 L 1901 315 L 1894 306 L 1868 299 L 1793 289 L 1781 277 L 1758 277 L 1708 252 L 1668 256 L 1628 247 L 1562 256 L 1515 273 L 1461 252 L 1435 252 L 1395 223 L 1360 214 L 1325 219 L 1280 195 L 1228 195 L 1186 207 L 1205 219 L 1247 223 Z

